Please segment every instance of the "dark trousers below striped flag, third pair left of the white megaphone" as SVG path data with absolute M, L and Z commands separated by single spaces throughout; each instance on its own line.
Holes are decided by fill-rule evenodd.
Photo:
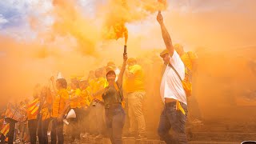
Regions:
M 36 119 L 29 120 L 28 126 L 29 126 L 29 130 L 30 130 L 30 143 L 36 144 L 37 143 L 38 120 L 36 120 Z

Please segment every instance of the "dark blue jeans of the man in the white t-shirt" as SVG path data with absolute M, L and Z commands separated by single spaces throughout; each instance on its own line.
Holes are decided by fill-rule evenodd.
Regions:
M 166 144 L 187 143 L 185 131 L 187 106 L 182 102 L 181 105 L 186 114 L 182 114 L 180 110 L 176 110 L 176 102 L 170 102 L 164 106 L 160 115 L 158 135 Z M 169 133 L 170 129 L 174 132 L 172 135 Z

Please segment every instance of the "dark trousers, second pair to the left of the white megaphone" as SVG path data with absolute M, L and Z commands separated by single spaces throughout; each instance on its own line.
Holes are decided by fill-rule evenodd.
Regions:
M 50 123 L 50 118 L 47 118 L 46 120 L 40 120 L 38 122 L 38 139 L 39 144 L 48 144 L 48 126 Z

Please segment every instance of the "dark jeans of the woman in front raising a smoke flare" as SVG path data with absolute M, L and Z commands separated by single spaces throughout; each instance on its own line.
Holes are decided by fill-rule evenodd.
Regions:
M 125 111 L 121 104 L 105 110 L 106 130 L 112 144 L 122 144 L 122 128 L 126 121 Z

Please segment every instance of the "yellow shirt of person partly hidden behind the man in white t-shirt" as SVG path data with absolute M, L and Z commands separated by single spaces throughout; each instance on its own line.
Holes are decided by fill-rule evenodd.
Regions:
M 193 70 L 192 62 L 196 59 L 198 59 L 197 54 L 193 53 L 192 51 L 186 52 L 181 56 L 182 62 L 184 65 L 189 69 Z

